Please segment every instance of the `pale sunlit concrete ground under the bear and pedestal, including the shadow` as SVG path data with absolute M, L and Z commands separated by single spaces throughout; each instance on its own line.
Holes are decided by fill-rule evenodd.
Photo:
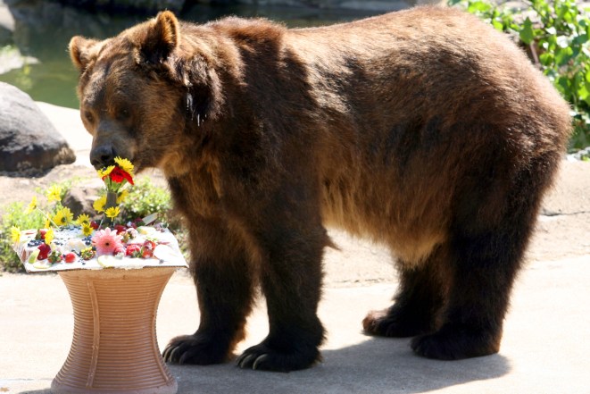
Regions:
M 77 112 L 41 107 L 79 153 L 76 165 L 86 167 L 89 138 Z M 53 176 L 73 171 L 58 169 Z M 11 181 L 30 185 L 0 180 L 0 186 Z M 494 356 L 434 361 L 414 356 L 410 340 L 365 336 L 366 312 L 388 306 L 395 292 L 391 259 L 383 247 L 330 233 L 341 250 L 329 249 L 326 256 L 323 363 L 294 373 L 245 371 L 233 363 L 170 365 L 179 393 L 590 393 L 590 163 L 564 162 L 545 199 Z M 187 272 L 177 272 L 158 311 L 160 348 L 197 324 L 194 286 Z M 0 393 L 49 393 L 72 329 L 70 298 L 58 276 L 0 276 Z M 261 300 L 238 354 L 267 331 Z

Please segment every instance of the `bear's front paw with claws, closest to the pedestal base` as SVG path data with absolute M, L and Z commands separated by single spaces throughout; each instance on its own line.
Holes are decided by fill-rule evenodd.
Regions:
M 222 340 L 206 340 L 199 334 L 181 335 L 170 340 L 162 357 L 170 364 L 220 364 L 228 361 L 229 346 Z

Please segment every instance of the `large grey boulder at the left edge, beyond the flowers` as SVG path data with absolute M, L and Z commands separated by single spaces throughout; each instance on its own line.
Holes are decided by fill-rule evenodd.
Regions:
M 0 172 L 37 174 L 76 155 L 29 95 L 0 82 Z

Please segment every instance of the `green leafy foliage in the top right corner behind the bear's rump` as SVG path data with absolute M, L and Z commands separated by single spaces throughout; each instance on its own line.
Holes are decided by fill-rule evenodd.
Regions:
M 570 148 L 590 146 L 590 18 L 574 0 L 528 0 L 509 9 L 492 0 L 450 0 L 495 29 L 518 37 L 533 62 L 572 106 Z

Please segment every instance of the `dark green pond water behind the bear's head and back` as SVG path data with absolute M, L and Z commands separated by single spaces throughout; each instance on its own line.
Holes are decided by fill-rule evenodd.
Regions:
M 25 2 L 12 6 L 15 20 L 13 46 L 0 43 L 0 66 L 16 63 L 10 71 L 2 71 L 0 81 L 27 92 L 34 100 L 78 108 L 76 84 L 78 71 L 71 65 L 67 51 L 70 38 L 82 35 L 108 38 L 118 34 L 145 16 L 116 16 L 87 13 L 46 1 Z M 341 21 L 352 21 L 374 13 L 336 10 L 298 9 L 262 6 L 195 5 L 179 17 L 202 23 L 225 15 L 264 17 L 285 23 L 288 27 L 310 27 Z

